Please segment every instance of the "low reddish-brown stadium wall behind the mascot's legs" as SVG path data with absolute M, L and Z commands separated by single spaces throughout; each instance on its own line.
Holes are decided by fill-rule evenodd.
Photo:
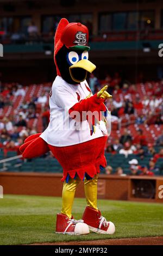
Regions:
M 37 196 L 61 197 L 62 182 L 61 174 L 52 173 L 0 173 L 0 185 L 4 194 L 29 194 Z M 155 194 L 153 198 L 135 198 L 135 182 L 150 181 L 155 184 Z M 162 198 L 161 189 L 162 187 Z M 81 181 L 76 197 L 85 197 L 84 183 Z M 112 200 L 134 200 L 142 202 L 163 203 L 163 177 L 154 176 L 115 176 L 99 175 L 98 178 L 98 198 Z

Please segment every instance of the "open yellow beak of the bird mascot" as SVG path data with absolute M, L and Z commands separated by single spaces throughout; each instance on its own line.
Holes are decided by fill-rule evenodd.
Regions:
M 74 68 L 81 68 L 81 69 L 84 69 L 84 70 L 92 73 L 92 71 L 96 69 L 96 66 L 92 62 L 90 62 L 90 60 L 87 60 L 87 59 L 81 59 L 76 64 L 73 64 L 72 66 L 70 66 L 69 70 L 70 70 L 70 75 L 71 75 L 72 80 L 74 80 L 75 82 L 82 82 L 73 77 L 71 70 Z M 87 72 L 86 72 L 85 78 L 86 78 L 86 76 L 87 76 Z M 85 78 L 84 78 L 84 80 L 85 80 Z

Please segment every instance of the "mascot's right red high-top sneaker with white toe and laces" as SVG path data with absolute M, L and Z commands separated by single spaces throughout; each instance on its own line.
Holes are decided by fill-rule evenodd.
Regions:
M 89 206 L 86 206 L 83 214 L 83 220 L 93 232 L 110 235 L 115 233 L 114 223 L 111 221 L 106 221 L 99 210 L 97 211 Z

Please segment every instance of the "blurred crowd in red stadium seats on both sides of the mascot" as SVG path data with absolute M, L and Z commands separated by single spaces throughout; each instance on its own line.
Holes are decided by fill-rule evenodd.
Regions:
M 156 162 L 163 158 L 163 81 L 138 82 L 122 81 L 115 73 L 98 80 L 89 78 L 90 88 L 96 93 L 105 84 L 112 99 L 106 102 L 111 111 L 111 135 L 106 144 L 105 154 L 135 155 L 130 164 L 131 175 L 153 175 Z M 16 151 L 29 135 L 46 129 L 49 122 L 48 94 L 52 83 L 22 86 L 5 83 L 0 93 L 0 148 L 7 157 L 9 151 Z M 155 150 L 157 148 L 157 150 Z M 140 160 L 151 156 L 147 166 L 140 166 Z M 48 156 L 49 157 L 49 156 Z M 133 161 L 133 162 L 132 162 Z M 106 167 L 111 174 L 113 168 Z M 116 175 L 124 175 L 121 166 L 114 169 Z

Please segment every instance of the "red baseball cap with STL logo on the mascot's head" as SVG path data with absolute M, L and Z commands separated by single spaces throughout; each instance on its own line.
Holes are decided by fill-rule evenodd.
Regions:
M 87 46 L 89 40 L 89 32 L 86 26 L 81 23 L 69 23 L 61 34 L 62 44 L 67 48 L 77 50 L 89 50 Z

